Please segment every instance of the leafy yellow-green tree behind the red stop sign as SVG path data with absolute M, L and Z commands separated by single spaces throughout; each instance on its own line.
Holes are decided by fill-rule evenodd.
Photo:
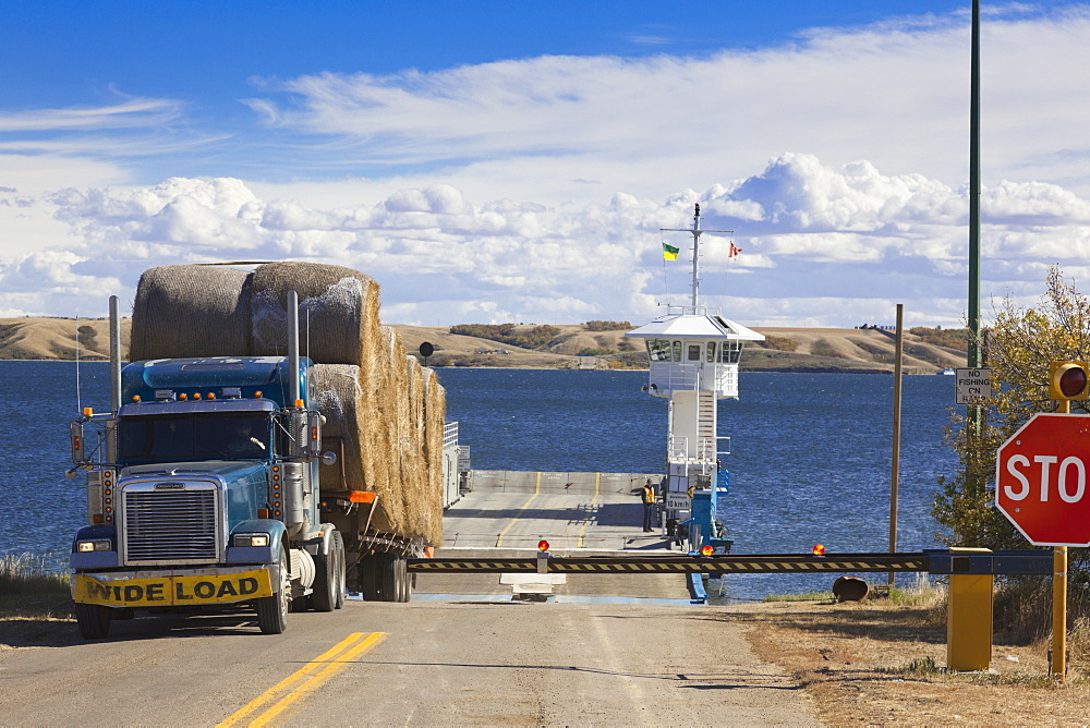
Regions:
M 948 530 L 950 546 L 1026 548 L 1017 529 L 994 507 L 989 487 L 995 480 L 995 451 L 1037 412 L 1055 411 L 1049 399 L 1049 363 L 1086 361 L 1090 353 L 1090 299 L 1067 283 L 1058 268 L 1049 270 L 1037 308 L 1022 310 L 1009 296 L 995 313 L 985 340 L 992 367 L 992 398 L 982 402 L 979 436 L 966 415 L 955 412 L 946 442 L 958 456 L 953 477 L 940 477 L 932 515 Z M 1087 413 L 1086 402 L 1071 402 Z M 1071 572 L 1087 582 L 1086 549 L 1071 554 Z M 1074 583 L 1074 582 L 1073 582 Z

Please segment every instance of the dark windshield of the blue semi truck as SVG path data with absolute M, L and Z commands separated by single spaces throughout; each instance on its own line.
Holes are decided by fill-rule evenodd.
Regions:
M 254 459 L 269 449 L 269 420 L 261 415 L 123 417 L 118 427 L 124 462 Z

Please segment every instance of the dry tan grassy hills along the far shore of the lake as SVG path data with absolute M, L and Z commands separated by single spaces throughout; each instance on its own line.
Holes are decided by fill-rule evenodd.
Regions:
M 122 351 L 128 351 L 128 319 L 122 321 Z M 504 340 L 487 338 L 495 327 L 474 327 L 479 336 L 451 333 L 451 327 L 395 326 L 405 348 L 419 352 L 428 341 L 432 366 L 496 366 L 512 368 L 646 367 L 642 342 L 625 338 L 626 328 L 601 330 L 602 323 L 547 327 L 505 327 Z M 0 319 L 0 359 L 83 360 L 109 356 L 109 323 L 105 319 Z M 462 330 L 462 329 L 457 329 Z M 754 372 L 892 372 L 894 332 L 880 329 L 759 328 L 766 337 L 742 352 L 741 367 Z M 485 335 L 485 336 L 481 336 Z M 547 335 L 547 336 L 545 336 Z M 521 338 L 520 338 L 521 337 Z M 531 349 L 507 341 L 528 341 Z M 542 342 L 544 343 L 537 343 Z M 580 354 L 584 354 L 580 356 Z M 965 366 L 964 336 L 956 329 L 912 329 L 905 335 L 905 371 L 933 374 Z

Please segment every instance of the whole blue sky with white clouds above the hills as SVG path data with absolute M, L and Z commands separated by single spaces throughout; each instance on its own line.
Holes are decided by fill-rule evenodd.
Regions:
M 701 202 L 740 323 L 958 325 L 968 8 L 0 0 L 0 315 L 290 258 L 387 323 L 639 323 Z M 983 15 L 983 289 L 1031 303 L 1090 271 L 1090 5 Z

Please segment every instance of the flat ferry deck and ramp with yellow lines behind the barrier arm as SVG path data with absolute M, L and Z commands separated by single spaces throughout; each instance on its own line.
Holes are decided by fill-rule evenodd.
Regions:
M 669 554 L 661 530 L 643 532 L 640 490 L 649 478 L 658 483 L 662 475 L 471 471 L 469 489 L 444 514 L 443 545 L 436 557 L 525 558 L 537 551 L 541 541 L 547 541 L 549 551 L 558 556 Z M 688 604 L 690 599 L 683 574 L 562 577 L 552 587 L 558 602 Z M 496 573 L 416 573 L 415 578 L 414 598 L 511 599 L 510 582 L 518 581 Z

